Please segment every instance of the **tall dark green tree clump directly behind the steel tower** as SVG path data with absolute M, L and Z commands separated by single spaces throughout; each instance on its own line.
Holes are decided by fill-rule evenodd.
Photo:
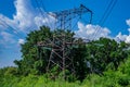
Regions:
M 18 66 L 17 71 L 20 75 L 25 75 L 27 76 L 28 74 L 34 74 L 34 75 L 42 75 L 47 73 L 47 65 L 48 61 L 50 58 L 50 52 L 51 50 L 48 47 L 37 47 L 37 44 L 40 41 L 46 41 L 48 42 L 49 39 L 52 40 L 52 36 L 62 38 L 63 34 L 66 35 L 65 39 L 66 41 L 74 41 L 74 33 L 70 30 L 63 30 L 63 29 L 56 29 L 56 30 L 50 30 L 49 27 L 40 27 L 39 30 L 35 30 L 28 34 L 26 38 L 26 42 L 22 45 L 22 60 L 17 61 L 15 60 L 14 63 Z M 81 40 L 77 40 L 82 42 Z M 49 41 L 50 42 L 50 41 Z M 54 41 L 58 47 L 62 47 L 63 41 L 55 39 Z M 80 80 L 82 80 L 86 77 L 86 64 L 84 64 L 84 58 L 86 58 L 86 46 L 80 45 L 77 48 L 70 47 L 70 45 L 67 45 L 65 47 L 65 50 L 67 50 L 68 58 L 70 60 L 74 59 L 74 66 L 76 69 L 76 77 Z M 67 49 L 66 49 L 67 48 Z M 69 49 L 69 50 L 68 50 Z M 62 57 L 63 52 L 60 51 L 58 54 Z M 58 57 L 55 54 L 53 60 L 54 62 L 60 63 Z M 70 63 L 70 60 L 65 61 L 66 64 Z M 61 63 L 60 63 L 61 64 Z M 61 64 L 62 65 L 62 64 Z M 53 71 L 53 65 L 52 71 Z M 72 74 L 72 66 L 67 67 L 66 71 L 69 71 L 69 74 Z M 56 74 L 55 74 L 56 73 Z M 56 75 L 62 73 L 61 70 L 56 70 L 53 73 L 53 76 L 55 77 Z M 68 78 L 68 77 L 67 77 Z M 70 77 L 72 78 L 72 77 Z

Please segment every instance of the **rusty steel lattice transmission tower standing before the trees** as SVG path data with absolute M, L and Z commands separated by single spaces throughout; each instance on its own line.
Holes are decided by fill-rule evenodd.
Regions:
M 77 9 L 69 9 L 60 12 L 49 13 L 56 18 L 55 29 L 61 29 L 60 33 L 53 34 L 53 40 L 47 40 L 38 42 L 39 47 L 51 48 L 51 54 L 48 61 L 47 72 L 50 73 L 53 66 L 57 66 L 58 71 L 63 72 L 62 77 L 65 79 L 65 70 L 68 70 L 72 74 L 75 74 L 75 66 L 73 58 L 70 58 L 70 48 L 77 46 L 80 42 L 74 40 L 73 36 L 66 35 L 67 30 L 72 29 L 73 20 L 80 17 L 84 13 L 90 14 L 89 22 L 92 20 L 92 11 L 80 4 Z

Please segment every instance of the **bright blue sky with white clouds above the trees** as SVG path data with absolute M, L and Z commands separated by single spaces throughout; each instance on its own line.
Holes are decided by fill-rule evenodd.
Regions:
M 39 7 L 36 1 L 38 1 Z M 104 23 L 99 23 L 112 0 L 1 0 L 0 1 L 0 67 L 14 65 L 14 60 L 21 59 L 21 44 L 25 42 L 26 34 L 39 26 L 54 23 L 54 18 L 46 12 L 42 17 L 39 12 L 43 5 L 47 12 L 55 12 L 78 8 L 80 3 L 92 10 L 92 24 L 77 23 L 75 30 L 78 37 L 91 37 L 96 29 L 100 37 L 113 38 L 117 41 L 130 42 L 130 0 L 117 0 Z M 116 1 L 116 0 L 113 0 Z M 112 5 L 109 5 L 110 8 Z M 107 11 L 106 11 L 107 12 Z M 13 28 L 11 28 L 11 27 Z

